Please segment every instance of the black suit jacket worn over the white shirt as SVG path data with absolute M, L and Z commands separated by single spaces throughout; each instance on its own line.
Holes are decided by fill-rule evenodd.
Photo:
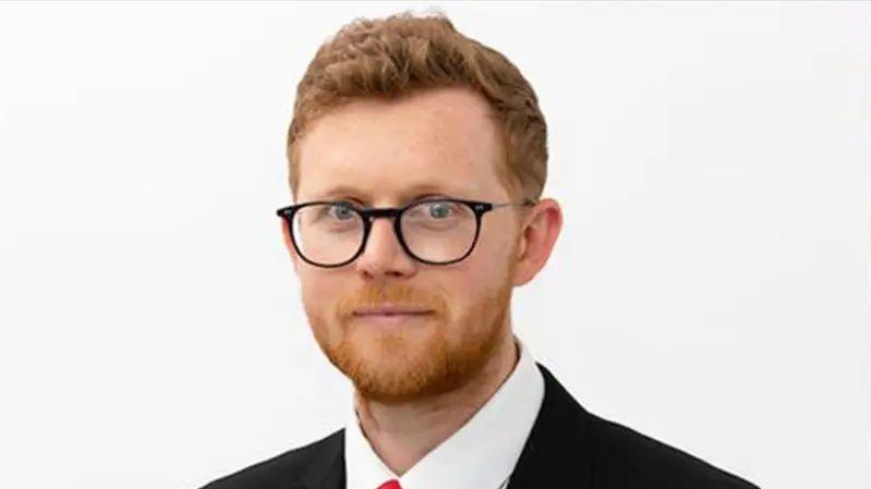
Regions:
M 508 489 L 759 489 L 586 412 L 547 368 L 536 365 L 544 375 L 544 401 Z M 344 428 L 203 489 L 346 489 Z

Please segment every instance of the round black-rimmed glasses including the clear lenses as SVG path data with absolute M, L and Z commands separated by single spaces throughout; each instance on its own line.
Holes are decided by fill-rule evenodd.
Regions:
M 520 203 L 485 203 L 458 198 L 430 198 L 404 207 L 362 209 L 344 200 L 318 200 L 278 209 L 288 221 L 293 247 L 307 264 L 341 267 L 366 247 L 372 221 L 394 220 L 394 232 L 412 258 L 427 265 L 456 264 L 472 253 L 481 233 L 481 218 L 491 210 Z

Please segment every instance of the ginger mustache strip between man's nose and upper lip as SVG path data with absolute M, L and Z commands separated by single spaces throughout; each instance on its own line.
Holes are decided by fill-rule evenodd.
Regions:
M 366 284 L 343 297 L 337 306 L 340 320 L 350 318 L 355 309 L 378 307 L 384 304 L 409 306 L 412 308 L 432 309 L 436 316 L 447 313 L 447 301 L 437 292 L 402 284 L 384 284 L 379 286 Z

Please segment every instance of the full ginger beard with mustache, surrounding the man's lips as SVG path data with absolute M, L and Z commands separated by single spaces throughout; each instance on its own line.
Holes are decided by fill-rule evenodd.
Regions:
M 362 398 L 406 403 L 457 390 L 481 374 L 507 334 L 510 277 L 457 317 L 450 315 L 444 293 L 386 282 L 365 284 L 339 301 L 331 315 L 307 306 L 306 314 L 320 350 Z M 354 323 L 355 308 L 386 302 L 433 314 L 408 328 Z

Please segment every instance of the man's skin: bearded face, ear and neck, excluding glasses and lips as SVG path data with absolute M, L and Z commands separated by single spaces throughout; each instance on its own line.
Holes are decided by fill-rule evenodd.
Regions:
M 435 195 L 519 200 L 497 173 L 505 155 L 489 106 L 467 88 L 356 99 L 312 122 L 298 144 L 299 203 L 342 198 L 399 207 Z M 549 198 L 493 210 L 483 217 L 472 254 L 448 266 L 414 260 L 390 220 L 377 219 L 363 254 L 335 269 L 300 259 L 281 223 L 314 337 L 353 382 L 373 449 L 402 475 L 465 424 L 513 370 L 511 291 L 544 267 L 562 216 Z M 384 303 L 431 314 L 389 325 L 352 314 Z

